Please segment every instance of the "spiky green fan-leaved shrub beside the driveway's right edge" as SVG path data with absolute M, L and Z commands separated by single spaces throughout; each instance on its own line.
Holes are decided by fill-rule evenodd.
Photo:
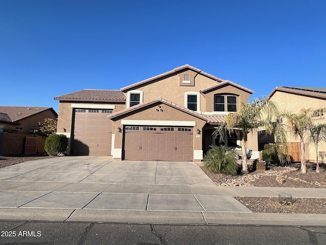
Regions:
M 239 154 L 235 150 L 224 145 L 212 145 L 204 156 L 204 167 L 212 173 L 236 175 L 239 168 L 238 158 Z

